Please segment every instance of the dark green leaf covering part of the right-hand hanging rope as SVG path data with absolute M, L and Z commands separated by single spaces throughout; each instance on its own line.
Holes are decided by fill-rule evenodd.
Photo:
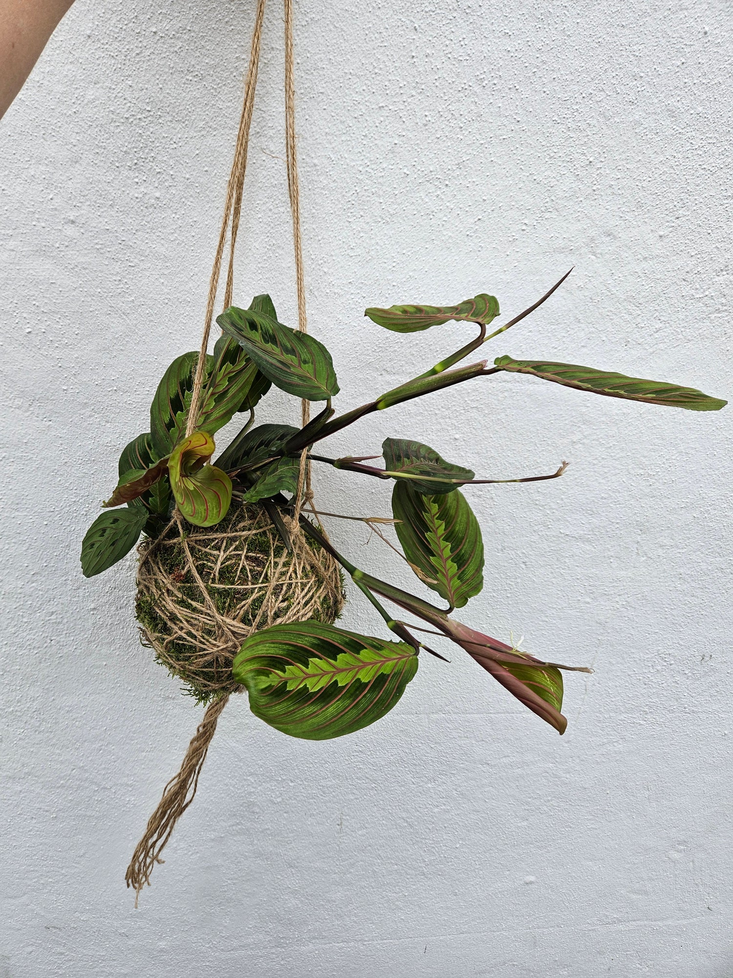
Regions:
M 330 353 L 318 339 L 262 312 L 230 306 L 217 323 L 234 336 L 265 377 L 288 394 L 324 401 L 338 393 Z

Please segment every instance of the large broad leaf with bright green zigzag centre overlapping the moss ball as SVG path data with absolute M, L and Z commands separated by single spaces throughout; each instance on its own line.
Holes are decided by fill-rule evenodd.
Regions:
M 410 645 L 317 621 L 255 632 L 234 662 L 252 713 L 282 733 L 308 740 L 373 724 L 397 703 L 416 672 Z

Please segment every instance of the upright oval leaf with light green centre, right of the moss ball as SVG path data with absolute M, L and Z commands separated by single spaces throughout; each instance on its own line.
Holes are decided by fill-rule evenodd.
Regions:
M 423 496 L 406 482 L 392 492 L 392 513 L 405 556 L 415 573 L 452 607 L 462 607 L 484 586 L 481 528 L 462 493 Z

